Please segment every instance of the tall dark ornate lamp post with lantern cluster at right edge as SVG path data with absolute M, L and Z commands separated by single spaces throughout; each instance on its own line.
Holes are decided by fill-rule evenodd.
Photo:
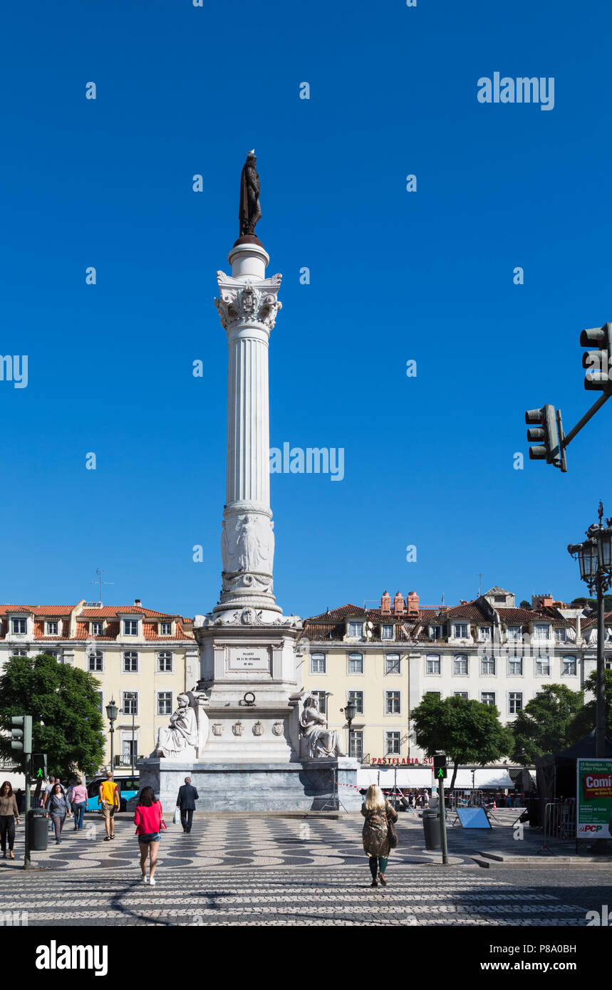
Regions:
M 602 525 L 603 504 L 599 503 L 599 523 L 589 526 L 582 544 L 569 544 L 567 552 L 580 565 L 580 578 L 589 591 L 597 592 L 597 690 L 595 695 L 595 755 L 606 755 L 606 692 L 604 662 L 604 592 L 612 584 L 612 519 Z

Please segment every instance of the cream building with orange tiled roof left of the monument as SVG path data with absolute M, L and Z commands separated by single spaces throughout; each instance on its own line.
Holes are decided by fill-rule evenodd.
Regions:
M 48 653 L 58 663 L 89 671 L 99 681 L 105 727 L 104 765 L 110 765 L 106 705 L 120 710 L 115 723 L 116 766 L 130 766 L 154 748 L 157 730 L 167 726 L 176 696 L 195 686 L 198 648 L 192 620 L 133 605 L 0 606 L 0 669 L 14 655 Z

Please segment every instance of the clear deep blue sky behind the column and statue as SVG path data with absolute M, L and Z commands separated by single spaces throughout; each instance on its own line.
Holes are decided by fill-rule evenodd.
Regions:
M 452 603 L 479 572 L 517 603 L 584 593 L 565 546 L 599 498 L 612 513 L 610 409 L 566 474 L 513 455 L 526 409 L 561 406 L 568 431 L 597 398 L 578 338 L 612 319 L 609 5 L 35 0 L 3 20 L 0 350 L 29 380 L 0 381 L 0 600 L 93 600 L 101 567 L 107 604 L 216 603 L 215 273 L 254 147 L 283 273 L 270 443 L 346 461 L 342 482 L 272 475 L 279 604 Z M 478 103 L 495 71 L 554 77 L 554 109 Z

